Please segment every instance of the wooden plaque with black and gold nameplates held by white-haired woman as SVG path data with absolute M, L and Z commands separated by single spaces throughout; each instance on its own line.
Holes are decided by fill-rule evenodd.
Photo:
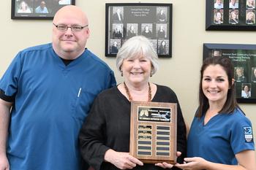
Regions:
M 131 104 L 129 154 L 143 163 L 176 163 L 177 104 Z

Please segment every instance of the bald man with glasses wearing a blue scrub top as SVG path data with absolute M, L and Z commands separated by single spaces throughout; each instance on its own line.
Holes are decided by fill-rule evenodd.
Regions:
M 85 13 L 65 6 L 53 18 L 53 42 L 13 59 L 0 80 L 0 169 L 82 169 L 80 127 L 95 96 L 116 85 L 88 38 Z

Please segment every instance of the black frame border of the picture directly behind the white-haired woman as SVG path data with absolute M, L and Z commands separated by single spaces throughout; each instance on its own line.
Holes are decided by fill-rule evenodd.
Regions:
M 167 24 L 169 24 L 169 28 L 167 30 L 167 44 L 168 44 L 168 53 L 166 55 L 160 55 L 158 54 L 157 51 L 157 55 L 159 58 L 172 58 L 172 32 L 173 32 L 173 4 L 167 4 L 167 3 L 106 3 L 105 4 L 105 56 L 106 57 L 116 57 L 116 54 L 112 54 L 110 53 L 110 37 L 112 34 L 112 31 L 110 30 L 110 7 L 140 7 L 140 6 L 150 6 L 150 7 L 168 7 L 169 8 L 169 13 L 170 15 L 168 15 L 167 17 Z M 135 22 L 138 23 L 138 22 Z M 138 24 L 142 24 L 143 22 L 139 22 Z M 154 23 L 151 23 L 154 24 Z M 157 25 L 157 22 L 155 23 Z M 127 31 L 127 30 L 126 30 Z M 153 31 L 152 31 L 153 32 Z M 126 40 L 124 38 L 124 40 Z M 153 40 L 153 39 L 152 39 Z M 158 45 L 158 43 L 157 43 Z

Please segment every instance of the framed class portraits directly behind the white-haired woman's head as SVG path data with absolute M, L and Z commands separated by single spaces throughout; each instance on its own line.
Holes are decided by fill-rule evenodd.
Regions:
M 172 4 L 106 4 L 105 56 L 116 57 L 132 36 L 146 36 L 159 58 L 172 56 Z

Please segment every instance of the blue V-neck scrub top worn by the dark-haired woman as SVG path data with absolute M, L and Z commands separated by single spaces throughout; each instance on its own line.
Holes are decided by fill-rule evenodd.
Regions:
M 232 114 L 218 114 L 203 124 L 204 116 L 195 117 L 187 140 L 187 157 L 201 157 L 214 163 L 236 165 L 235 155 L 255 150 L 252 123 L 236 109 Z

